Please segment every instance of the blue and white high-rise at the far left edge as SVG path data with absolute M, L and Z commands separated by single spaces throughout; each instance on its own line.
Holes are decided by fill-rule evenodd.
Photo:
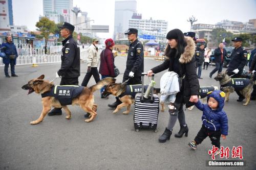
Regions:
M 3 0 L 0 2 L 0 32 L 11 31 L 9 25 L 13 25 L 12 0 Z

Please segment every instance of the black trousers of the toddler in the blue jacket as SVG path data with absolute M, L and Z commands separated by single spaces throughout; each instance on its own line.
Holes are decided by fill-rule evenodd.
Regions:
M 207 128 L 204 127 L 204 125 L 202 125 L 202 128 L 200 129 L 200 131 L 198 132 L 197 136 L 195 137 L 195 141 L 197 144 L 202 143 L 202 141 L 209 136 L 210 140 L 211 140 L 211 144 L 215 145 L 215 147 L 220 149 L 220 138 L 221 138 L 221 131 L 210 131 Z

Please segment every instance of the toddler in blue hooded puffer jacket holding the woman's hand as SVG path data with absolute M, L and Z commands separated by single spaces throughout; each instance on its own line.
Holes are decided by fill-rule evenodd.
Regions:
M 209 136 L 211 144 L 220 150 L 220 138 L 226 139 L 228 132 L 227 115 L 222 110 L 224 101 L 225 93 L 215 90 L 208 92 L 207 104 L 201 104 L 199 100 L 195 103 L 196 107 L 203 111 L 203 125 L 194 141 L 188 143 L 192 149 L 196 150 L 197 145 Z

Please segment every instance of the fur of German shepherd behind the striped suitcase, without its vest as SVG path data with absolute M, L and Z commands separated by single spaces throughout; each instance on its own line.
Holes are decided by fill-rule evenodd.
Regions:
M 114 96 L 119 96 L 123 94 L 126 90 L 126 83 L 111 83 L 106 85 L 102 95 L 108 96 L 110 94 Z M 139 91 L 138 91 L 139 92 Z M 154 94 L 160 93 L 160 88 L 154 88 Z M 117 113 L 122 107 L 127 107 L 127 110 L 123 112 L 123 114 L 129 114 L 131 112 L 131 105 L 134 104 L 134 98 L 132 95 L 124 95 L 119 100 L 122 102 L 120 105 L 116 107 L 116 109 L 112 113 Z M 164 111 L 164 103 L 160 103 L 162 106 L 161 111 Z

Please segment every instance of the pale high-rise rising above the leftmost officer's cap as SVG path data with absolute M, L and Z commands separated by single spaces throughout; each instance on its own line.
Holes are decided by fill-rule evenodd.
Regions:
M 43 0 L 44 16 L 51 12 L 56 12 L 64 17 L 64 20 L 70 22 L 73 0 Z

